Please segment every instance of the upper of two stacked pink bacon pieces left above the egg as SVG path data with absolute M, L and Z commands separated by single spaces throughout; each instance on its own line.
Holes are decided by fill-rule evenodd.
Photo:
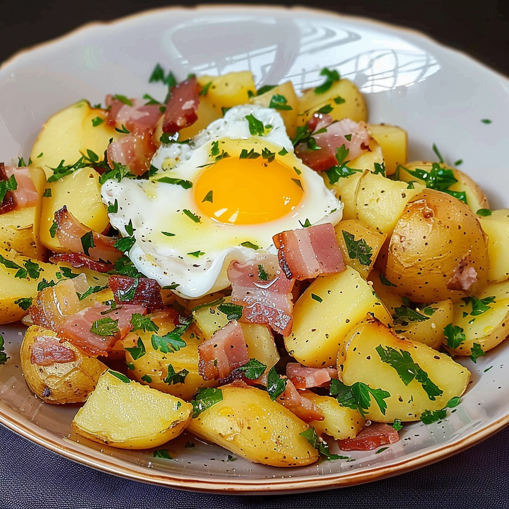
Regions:
M 124 126 L 129 132 L 154 130 L 161 118 L 160 104 L 147 104 L 146 99 L 129 99 L 131 104 L 117 99 L 112 95 L 106 96 L 108 110 L 108 125 L 122 129 Z

